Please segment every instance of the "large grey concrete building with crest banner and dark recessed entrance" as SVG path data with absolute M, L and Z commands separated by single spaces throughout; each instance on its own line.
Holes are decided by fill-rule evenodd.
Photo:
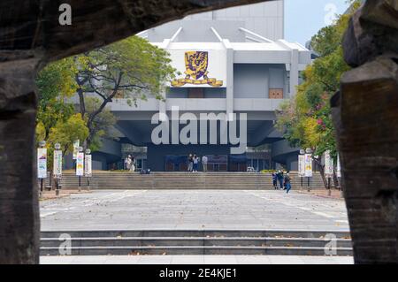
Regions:
M 275 110 L 295 95 L 310 51 L 282 39 L 283 1 L 205 12 L 138 35 L 168 50 L 182 74 L 165 101 L 148 94 L 137 107 L 110 104 L 120 138 L 93 154 L 95 169 L 120 168 L 131 154 L 138 168 L 185 171 L 188 153 L 209 156 L 210 171 L 296 169 L 298 150 L 274 128 Z M 162 125 L 168 132 L 155 134 Z

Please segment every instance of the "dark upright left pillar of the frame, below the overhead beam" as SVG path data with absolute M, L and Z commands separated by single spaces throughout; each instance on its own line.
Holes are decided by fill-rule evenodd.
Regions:
M 0 51 L 0 264 L 38 263 L 33 54 Z

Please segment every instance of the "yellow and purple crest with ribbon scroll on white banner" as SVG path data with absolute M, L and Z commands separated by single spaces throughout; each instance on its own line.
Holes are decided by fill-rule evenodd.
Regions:
M 185 52 L 185 79 L 172 80 L 173 87 L 181 87 L 185 84 L 209 84 L 212 87 L 221 87 L 223 81 L 207 77 L 209 53 L 206 51 Z M 200 80 L 203 77 L 203 80 Z

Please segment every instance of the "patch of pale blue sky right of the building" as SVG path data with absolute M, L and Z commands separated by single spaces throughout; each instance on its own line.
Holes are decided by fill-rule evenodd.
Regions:
M 305 45 L 347 8 L 347 0 L 285 0 L 285 39 Z

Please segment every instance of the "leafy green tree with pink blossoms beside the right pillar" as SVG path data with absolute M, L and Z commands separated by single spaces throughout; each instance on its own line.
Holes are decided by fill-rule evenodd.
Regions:
M 310 46 L 319 57 L 302 72 L 303 83 L 297 87 L 297 95 L 282 103 L 277 111 L 276 125 L 290 145 L 312 149 L 325 187 L 325 165 L 321 164 L 320 156 L 330 150 L 331 156 L 337 157 L 329 101 L 340 88 L 341 74 L 349 70 L 341 42 L 348 19 L 358 7 L 359 2 L 352 1 L 348 13 L 340 15 L 333 25 L 322 28 L 312 37 Z

